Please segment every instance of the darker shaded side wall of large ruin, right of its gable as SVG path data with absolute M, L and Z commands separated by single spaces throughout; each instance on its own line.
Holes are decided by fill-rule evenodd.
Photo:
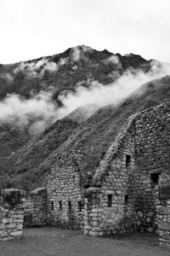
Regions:
M 170 104 L 149 108 L 135 121 L 135 204 L 139 231 L 154 231 L 156 185 L 170 172 Z

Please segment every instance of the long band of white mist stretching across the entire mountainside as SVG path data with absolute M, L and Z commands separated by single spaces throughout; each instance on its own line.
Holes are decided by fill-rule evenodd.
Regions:
M 42 91 L 37 95 L 32 93 L 30 99 L 18 95 L 8 95 L 0 102 L 0 122 L 8 122 L 19 127 L 27 126 L 31 133 L 36 134 L 77 108 L 79 108 L 79 113 L 82 112 L 82 115 L 89 117 L 98 108 L 108 104 L 116 105 L 134 91 L 139 90 L 142 84 L 167 74 L 170 74 L 168 64 L 160 67 L 159 62 L 153 62 L 149 73 L 142 71 L 133 73 L 129 70 L 116 82 L 108 85 L 88 80 L 89 88 L 82 87 L 79 83 L 74 93 L 70 92 L 60 96 L 59 100 L 62 102 L 60 105 L 53 100 L 54 90 Z M 139 93 L 141 93 L 140 90 Z M 86 107 L 81 108 L 82 106 Z

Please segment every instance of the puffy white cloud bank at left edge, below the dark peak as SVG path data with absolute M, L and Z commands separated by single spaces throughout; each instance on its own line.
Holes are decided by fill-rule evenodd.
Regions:
M 43 131 L 58 119 L 58 105 L 52 100 L 52 92 L 40 92 L 31 99 L 8 95 L 0 102 L 0 122 L 28 127 L 33 133 Z

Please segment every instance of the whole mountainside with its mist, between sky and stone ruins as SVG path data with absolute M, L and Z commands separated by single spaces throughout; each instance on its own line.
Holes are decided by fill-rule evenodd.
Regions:
M 37 186 L 80 150 L 89 177 L 133 113 L 169 101 L 170 66 L 81 45 L 0 65 L 1 188 Z

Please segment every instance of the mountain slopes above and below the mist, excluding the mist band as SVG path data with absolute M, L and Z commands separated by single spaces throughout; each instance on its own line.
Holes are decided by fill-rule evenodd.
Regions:
M 88 88 L 93 81 L 106 86 L 129 70 L 133 74 L 150 73 L 153 62 L 156 72 L 161 72 L 161 62 L 146 61 L 140 55 L 114 55 L 106 49 L 97 51 L 77 46 L 59 55 L 0 65 L 0 99 L 3 102 L 8 94 L 17 94 L 29 100 L 42 90 L 50 91 L 52 101 L 57 108 L 62 108 L 60 96 L 80 86 Z M 90 178 L 131 114 L 169 101 L 169 84 L 168 76 L 153 80 L 118 105 L 108 105 L 98 111 L 95 104 L 82 106 L 65 118 L 49 123 L 36 136 L 29 130 L 32 119 L 24 127 L 1 121 L 0 189 L 34 189 L 56 157 L 71 150 L 81 151 Z

